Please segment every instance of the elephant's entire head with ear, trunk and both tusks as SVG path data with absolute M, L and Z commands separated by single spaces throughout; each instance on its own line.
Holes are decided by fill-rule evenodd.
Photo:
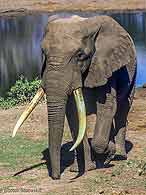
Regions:
M 47 95 L 49 149 L 54 178 L 58 178 L 59 174 L 58 163 L 67 98 L 72 92 L 75 94 L 80 113 L 81 132 L 79 130 L 79 137 L 72 148 L 74 149 L 85 132 L 86 118 L 81 88 L 104 85 L 112 72 L 125 64 L 125 49 L 129 47 L 129 42 L 126 43 L 126 38 L 122 38 L 124 33 L 123 28 L 107 16 L 72 16 L 48 22 L 42 41 L 42 88 Z M 36 99 L 43 96 L 43 90 L 39 91 Z M 34 105 L 32 102 L 31 107 Z M 27 110 L 25 116 L 20 118 L 13 135 L 28 113 Z

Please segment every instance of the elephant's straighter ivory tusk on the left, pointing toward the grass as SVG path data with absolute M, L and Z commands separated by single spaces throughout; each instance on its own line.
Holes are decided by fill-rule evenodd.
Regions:
M 44 96 L 44 90 L 42 88 L 39 88 L 34 98 L 31 100 L 30 105 L 26 110 L 22 113 L 19 120 L 17 121 L 12 137 L 15 137 L 17 130 L 21 127 L 21 125 L 24 123 L 24 121 L 27 119 L 27 117 L 30 115 L 30 113 L 33 111 L 33 109 L 36 107 L 36 105 L 39 103 L 41 98 Z

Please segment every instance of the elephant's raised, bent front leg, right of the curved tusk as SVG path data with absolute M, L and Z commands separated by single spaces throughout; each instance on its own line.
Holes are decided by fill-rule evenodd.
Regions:
M 97 93 L 97 118 L 91 145 L 97 154 L 103 154 L 114 151 L 110 135 L 117 109 L 116 89 L 113 84 L 107 84 L 97 88 Z

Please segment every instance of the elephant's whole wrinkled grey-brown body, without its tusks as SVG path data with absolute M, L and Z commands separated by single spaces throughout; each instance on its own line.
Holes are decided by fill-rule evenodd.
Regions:
M 95 101 L 97 118 L 91 141 L 95 153 L 114 154 L 116 136 L 116 147 L 126 157 L 126 121 L 136 75 L 135 48 L 129 34 L 108 16 L 56 18 L 48 22 L 42 52 L 51 177 L 60 178 L 66 104 L 67 116 L 72 120 L 76 116 L 71 94 L 79 87 L 84 90 L 86 106 L 90 99 Z M 71 126 L 74 140 L 75 129 L 78 127 Z M 95 168 L 87 136 L 77 148 L 77 157 L 83 157 L 84 171 Z M 76 160 L 71 169 L 76 171 Z

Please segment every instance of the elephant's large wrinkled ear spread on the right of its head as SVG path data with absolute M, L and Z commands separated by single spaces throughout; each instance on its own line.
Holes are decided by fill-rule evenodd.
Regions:
M 116 22 L 113 28 L 114 30 L 109 28 L 108 32 L 108 26 L 103 25 L 96 36 L 95 53 L 84 81 L 85 87 L 106 84 L 114 72 L 126 66 L 133 58 L 130 36 Z

